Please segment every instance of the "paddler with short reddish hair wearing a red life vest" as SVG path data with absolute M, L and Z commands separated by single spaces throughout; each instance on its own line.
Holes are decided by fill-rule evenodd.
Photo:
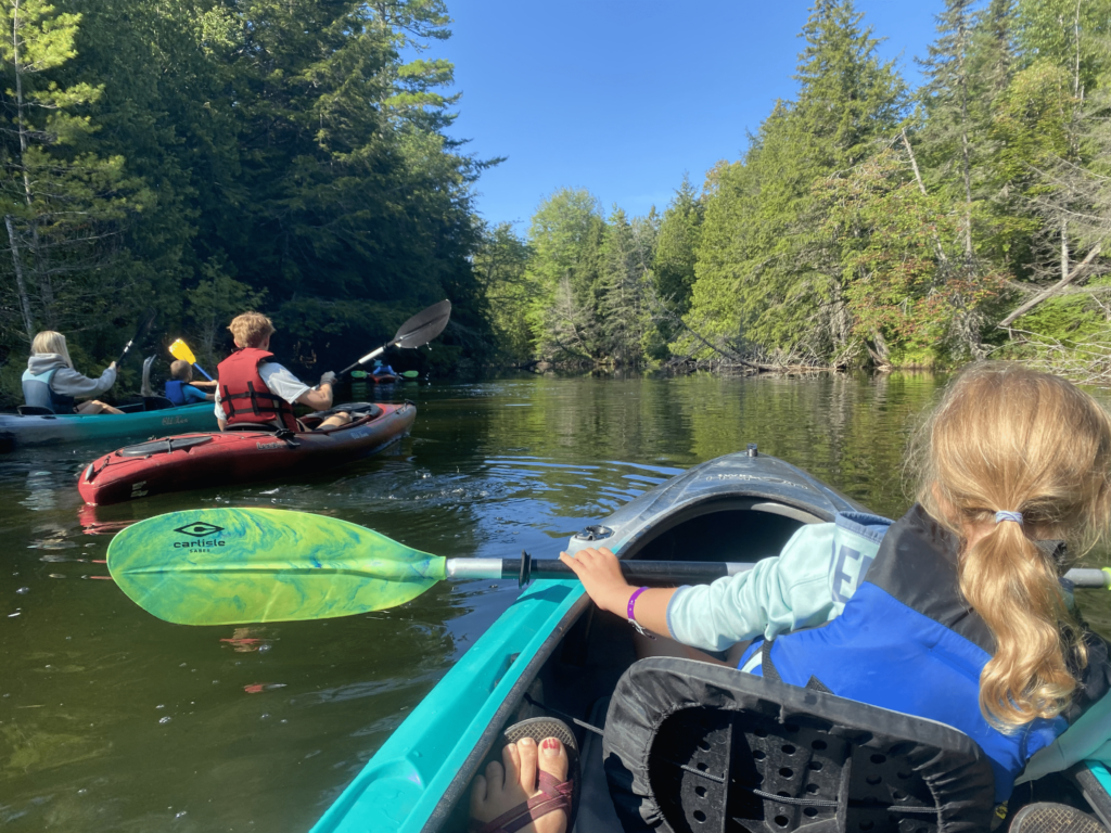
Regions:
M 270 361 L 270 337 L 274 325 L 259 312 L 237 315 L 228 327 L 239 348 L 217 368 L 219 387 L 216 394 L 216 415 L 220 430 L 228 425 L 277 425 L 298 432 L 302 428 L 293 416 L 293 404 L 314 411 L 332 407 L 331 371 L 320 377 L 320 384 L 310 388 L 278 362 Z M 351 415 L 346 411 L 332 414 L 316 430 L 346 425 Z

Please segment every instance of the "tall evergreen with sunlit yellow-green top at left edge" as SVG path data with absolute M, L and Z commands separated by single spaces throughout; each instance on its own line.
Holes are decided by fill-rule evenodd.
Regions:
M 81 110 L 102 87 L 59 84 L 76 56 L 80 16 L 58 12 L 44 0 L 0 4 L 0 61 L 10 87 L 3 94 L 11 130 L 0 148 L 0 192 L 8 210 L 9 243 L 24 334 L 81 327 L 118 313 L 112 293 L 122 282 L 104 280 L 120 252 L 120 231 L 141 209 L 142 183 L 127 175 L 122 157 L 91 150 L 96 127 Z

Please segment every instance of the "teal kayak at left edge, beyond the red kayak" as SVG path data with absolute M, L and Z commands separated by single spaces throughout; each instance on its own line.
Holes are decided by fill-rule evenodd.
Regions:
M 124 408 L 141 407 L 124 405 Z M 124 413 L 67 413 L 34 416 L 0 413 L 0 452 L 14 451 L 24 445 L 164 435 L 182 431 L 210 431 L 216 426 L 216 413 L 211 402 L 151 411 L 127 411 Z

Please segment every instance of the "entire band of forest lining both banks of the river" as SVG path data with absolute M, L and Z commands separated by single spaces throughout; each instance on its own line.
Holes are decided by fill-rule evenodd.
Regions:
M 396 368 L 1000 358 L 1111 384 L 1111 0 L 945 0 L 917 89 L 852 0 L 814 0 L 798 94 L 739 160 L 644 217 L 558 189 L 523 232 L 477 212 L 504 160 L 449 136 L 443 0 L 3 0 L 0 22 L 8 404 L 42 329 L 91 372 L 152 303 L 211 367 L 258 308 L 311 372 L 442 298 L 442 344 Z

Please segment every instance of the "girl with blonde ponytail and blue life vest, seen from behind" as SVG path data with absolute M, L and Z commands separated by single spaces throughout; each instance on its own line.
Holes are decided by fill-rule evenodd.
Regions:
M 560 559 L 637 626 L 710 651 L 753 640 L 742 671 L 961 730 L 992 764 L 997 802 L 1111 762 L 1108 644 L 1060 580 L 1111 520 L 1111 419 L 1060 378 L 980 364 L 914 451 L 918 502 L 901 520 L 803 526 L 778 558 L 710 585 L 633 588 L 609 550 Z

